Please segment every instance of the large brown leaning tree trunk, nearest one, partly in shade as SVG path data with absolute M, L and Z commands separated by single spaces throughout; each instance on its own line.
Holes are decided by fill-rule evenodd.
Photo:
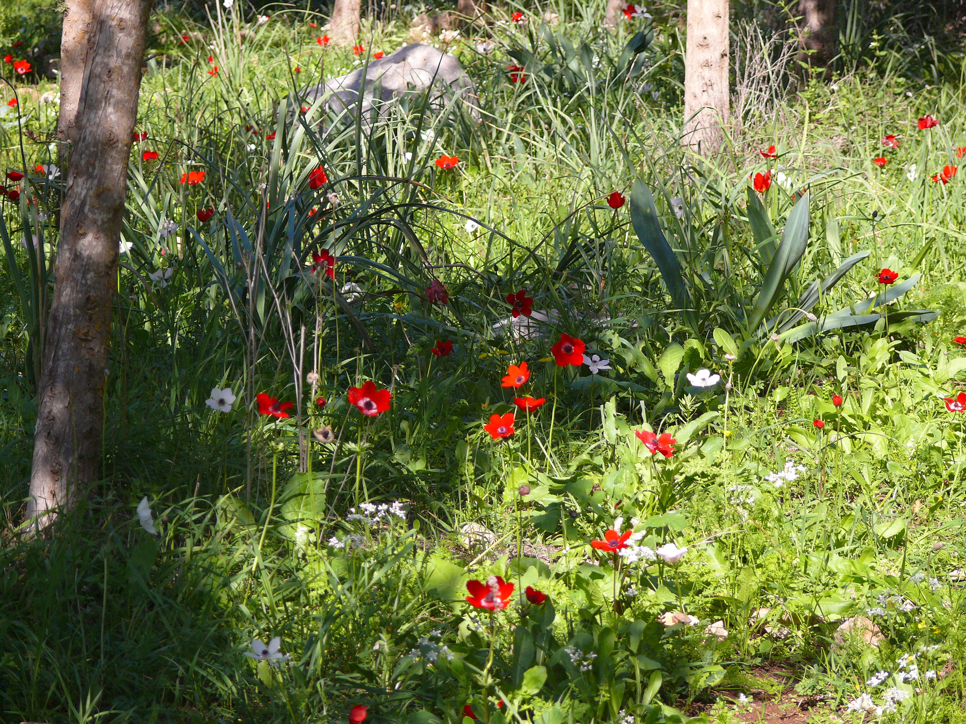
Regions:
M 27 518 L 36 528 L 99 478 L 103 393 L 118 245 L 151 0 L 69 0 L 90 8 L 47 319 Z M 81 6 L 78 10 L 77 6 Z M 77 15 L 74 16 L 77 19 Z M 65 34 L 68 25 L 65 24 Z M 74 68 L 71 59 L 62 68 Z M 73 79 L 67 81 L 71 87 Z M 66 117 L 65 117 L 66 118 Z

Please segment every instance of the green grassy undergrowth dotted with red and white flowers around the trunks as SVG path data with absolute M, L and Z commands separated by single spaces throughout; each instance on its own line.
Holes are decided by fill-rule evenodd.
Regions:
M 4 720 L 963 718 L 959 61 L 856 31 L 791 95 L 743 25 L 709 164 L 651 10 L 430 39 L 478 109 L 377 122 L 299 91 L 402 22 L 354 54 L 315 14 L 161 9 L 103 481 L 43 540 L 63 178 L 50 89 L 14 83 Z

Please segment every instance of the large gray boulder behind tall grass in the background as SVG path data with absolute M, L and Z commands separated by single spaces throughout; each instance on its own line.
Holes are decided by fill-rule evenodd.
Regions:
M 312 86 L 305 96 L 309 101 L 327 97 L 330 110 L 338 113 L 348 108 L 354 113 L 361 93 L 362 112 L 367 114 L 374 100 L 388 104 L 405 94 L 422 95 L 427 89 L 432 89 L 430 99 L 434 108 L 442 108 L 453 98 L 460 98 L 469 103 L 476 115 L 476 87 L 460 62 L 432 45 L 419 42 L 404 45 L 379 60 L 370 60 L 366 68 L 357 68 Z M 380 112 L 383 111 L 384 108 L 380 108 Z

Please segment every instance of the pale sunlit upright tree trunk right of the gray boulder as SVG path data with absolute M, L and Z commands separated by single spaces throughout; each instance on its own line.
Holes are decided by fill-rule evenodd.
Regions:
M 713 153 L 728 120 L 728 0 L 688 0 L 681 143 Z

